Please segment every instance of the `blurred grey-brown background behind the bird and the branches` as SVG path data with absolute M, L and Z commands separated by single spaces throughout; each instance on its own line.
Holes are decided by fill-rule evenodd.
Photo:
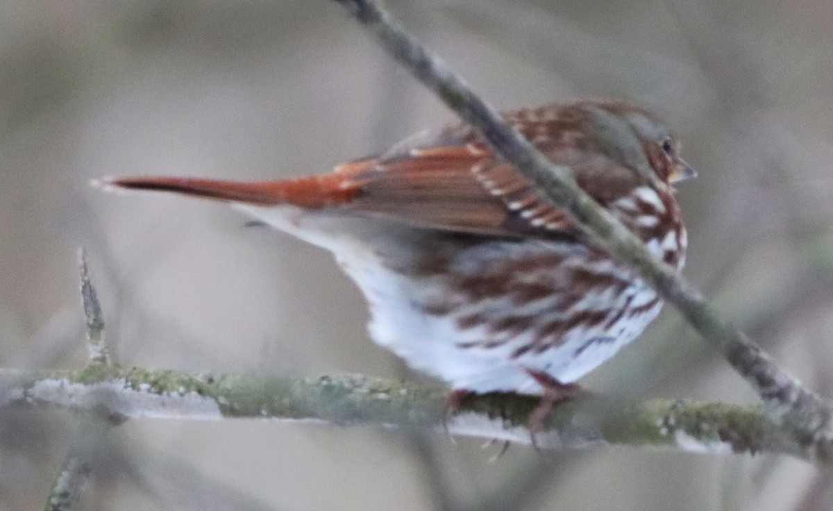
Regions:
M 497 108 L 629 98 L 700 178 L 686 277 L 833 396 L 833 3 L 390 1 Z M 0 364 L 86 363 L 76 250 L 126 365 L 421 378 L 368 338 L 331 258 L 222 205 L 105 195 L 142 173 L 282 178 L 452 117 L 331 2 L 43 0 L 0 6 Z M 583 383 L 755 403 L 672 309 Z M 64 413 L 0 414 L 0 506 L 42 505 Z M 377 428 L 132 420 L 84 509 L 830 508 L 831 478 L 762 454 L 556 453 Z

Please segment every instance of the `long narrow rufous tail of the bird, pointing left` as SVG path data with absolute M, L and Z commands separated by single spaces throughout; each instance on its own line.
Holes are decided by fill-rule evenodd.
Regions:
M 282 181 L 246 183 L 204 178 L 137 176 L 108 178 L 102 186 L 172 192 L 262 206 L 291 204 L 299 208 L 319 209 L 350 202 L 359 191 L 359 185 L 352 177 L 371 166 L 372 160 L 360 160 L 339 165 L 332 173 Z

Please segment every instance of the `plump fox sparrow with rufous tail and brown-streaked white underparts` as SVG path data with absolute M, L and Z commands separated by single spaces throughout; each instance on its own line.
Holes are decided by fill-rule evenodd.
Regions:
M 670 184 L 695 173 L 660 120 L 629 103 L 595 100 L 504 118 L 571 168 L 652 253 L 682 267 L 686 229 Z M 662 305 L 466 124 L 321 175 L 106 184 L 227 201 L 326 248 L 367 298 L 372 338 L 457 393 L 555 400 Z

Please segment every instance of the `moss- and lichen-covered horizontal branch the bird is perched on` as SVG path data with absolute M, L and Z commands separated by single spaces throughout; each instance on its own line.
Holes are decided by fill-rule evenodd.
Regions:
M 24 373 L 0 369 L 0 408 L 62 408 L 110 421 L 126 418 L 272 418 L 392 428 L 443 427 L 448 389 L 365 376 L 291 378 L 91 365 Z M 535 396 L 464 398 L 451 434 L 529 444 Z M 758 407 L 584 396 L 561 403 L 536 435 L 542 448 L 605 445 L 693 453 L 785 453 L 831 466 Z

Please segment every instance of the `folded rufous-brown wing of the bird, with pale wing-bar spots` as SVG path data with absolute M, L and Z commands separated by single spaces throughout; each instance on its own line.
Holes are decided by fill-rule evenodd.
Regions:
M 356 194 L 343 208 L 421 227 L 509 236 L 572 230 L 560 209 L 481 144 L 412 148 L 348 180 Z

